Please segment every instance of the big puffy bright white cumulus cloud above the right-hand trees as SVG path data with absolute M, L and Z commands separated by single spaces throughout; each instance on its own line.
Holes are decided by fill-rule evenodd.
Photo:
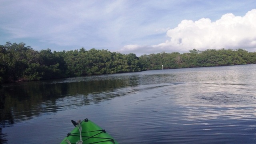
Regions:
M 122 52 L 188 52 L 192 49 L 238 49 L 256 50 L 256 9 L 245 16 L 224 14 L 212 22 L 209 18 L 197 21 L 182 20 L 176 28 L 166 32 L 166 42 L 152 46 L 127 45 Z M 148 52 L 147 52 L 148 53 Z

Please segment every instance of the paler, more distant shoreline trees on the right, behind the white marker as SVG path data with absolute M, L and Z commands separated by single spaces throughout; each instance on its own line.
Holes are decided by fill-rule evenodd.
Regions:
M 189 53 L 180 54 L 158 53 L 140 56 L 140 61 L 147 70 L 169 68 L 193 68 L 205 66 L 227 66 L 238 64 L 256 64 L 256 52 L 247 52 L 243 49 L 221 50 L 208 49 L 199 51 L 190 50 Z

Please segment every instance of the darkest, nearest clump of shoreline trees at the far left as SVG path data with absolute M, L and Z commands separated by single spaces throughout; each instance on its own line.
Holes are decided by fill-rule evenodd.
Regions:
M 50 49 L 35 51 L 24 43 L 0 45 L 0 80 L 21 82 L 64 77 L 63 57 L 52 54 Z

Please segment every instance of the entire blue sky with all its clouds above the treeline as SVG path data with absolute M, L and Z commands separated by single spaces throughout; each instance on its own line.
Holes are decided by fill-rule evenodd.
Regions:
M 256 52 L 255 0 L 0 0 L 0 44 L 156 54 Z

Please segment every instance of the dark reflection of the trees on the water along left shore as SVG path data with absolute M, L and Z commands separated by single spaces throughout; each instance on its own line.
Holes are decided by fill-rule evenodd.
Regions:
M 116 89 L 136 86 L 137 78 L 120 78 L 103 76 L 80 77 L 79 82 L 74 78 L 44 82 L 26 82 L 5 86 L 1 97 L 1 118 L 18 122 L 43 112 L 57 112 L 63 108 L 95 104 L 127 92 L 114 94 Z M 130 91 L 128 91 L 130 92 Z M 113 94 L 111 94 L 113 93 Z M 15 117 L 15 120 L 12 119 Z M 2 120 L 1 120 L 2 121 Z M 3 121 L 5 122 L 5 121 Z

